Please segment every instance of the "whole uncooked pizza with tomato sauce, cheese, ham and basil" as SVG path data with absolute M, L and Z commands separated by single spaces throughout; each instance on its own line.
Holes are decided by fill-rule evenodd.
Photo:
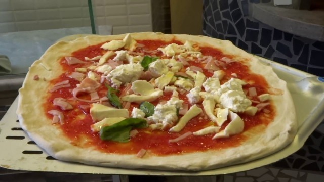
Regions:
M 297 130 L 270 66 L 229 41 L 152 32 L 55 43 L 29 68 L 17 114 L 56 159 L 136 169 L 240 164 Z

